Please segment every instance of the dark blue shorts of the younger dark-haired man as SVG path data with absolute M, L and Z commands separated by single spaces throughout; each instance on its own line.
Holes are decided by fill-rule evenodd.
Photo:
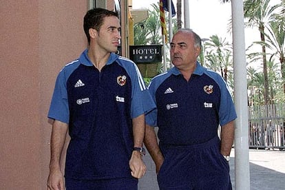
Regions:
M 67 190 L 136 190 L 138 180 L 136 178 L 114 178 L 107 180 L 76 180 L 65 178 Z

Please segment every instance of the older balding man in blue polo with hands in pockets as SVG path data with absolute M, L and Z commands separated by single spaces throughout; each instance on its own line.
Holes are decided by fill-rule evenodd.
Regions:
M 201 39 L 195 32 L 178 30 L 170 45 L 175 67 L 152 79 L 149 92 L 157 109 L 146 116 L 145 146 L 156 163 L 159 187 L 231 189 L 236 114 L 229 90 L 219 74 L 198 63 Z

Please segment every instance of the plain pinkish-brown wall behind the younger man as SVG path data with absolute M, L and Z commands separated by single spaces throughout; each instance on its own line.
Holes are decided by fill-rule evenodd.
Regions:
M 87 1 L 0 1 L 1 189 L 46 189 L 59 70 L 87 47 Z

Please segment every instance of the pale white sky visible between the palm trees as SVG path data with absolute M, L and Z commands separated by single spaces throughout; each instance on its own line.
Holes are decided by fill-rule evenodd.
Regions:
M 158 1 L 159 0 L 133 0 L 132 6 L 133 9 L 149 9 L 152 3 L 158 3 Z M 176 7 L 176 0 L 173 0 L 173 4 Z M 231 32 L 227 32 L 230 19 L 231 3 L 221 3 L 220 0 L 189 0 L 190 28 L 196 32 L 201 39 L 209 39 L 210 36 L 217 34 L 222 39 L 226 38 L 226 41 L 231 43 Z M 183 20 L 184 16 L 182 15 L 182 21 Z M 245 45 L 248 47 L 253 41 L 260 41 L 260 34 L 257 28 L 245 28 L 244 38 Z

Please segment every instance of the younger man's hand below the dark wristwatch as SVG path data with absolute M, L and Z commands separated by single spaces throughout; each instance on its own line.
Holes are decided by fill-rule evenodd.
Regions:
M 142 160 L 142 156 L 139 151 L 133 151 L 131 154 L 131 160 L 129 160 L 129 168 L 131 169 L 131 176 L 134 178 L 142 178 L 145 175 L 147 167 Z

